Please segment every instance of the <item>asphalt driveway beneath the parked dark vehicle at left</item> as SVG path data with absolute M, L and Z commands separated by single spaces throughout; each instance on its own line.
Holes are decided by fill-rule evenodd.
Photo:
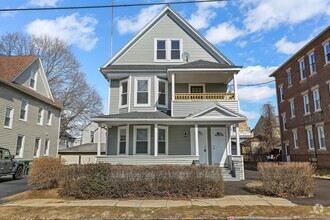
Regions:
M 3 198 L 29 189 L 31 189 L 31 187 L 27 184 L 26 177 L 20 180 L 13 180 L 11 176 L 0 177 L 0 204 L 5 202 L 2 200 Z

